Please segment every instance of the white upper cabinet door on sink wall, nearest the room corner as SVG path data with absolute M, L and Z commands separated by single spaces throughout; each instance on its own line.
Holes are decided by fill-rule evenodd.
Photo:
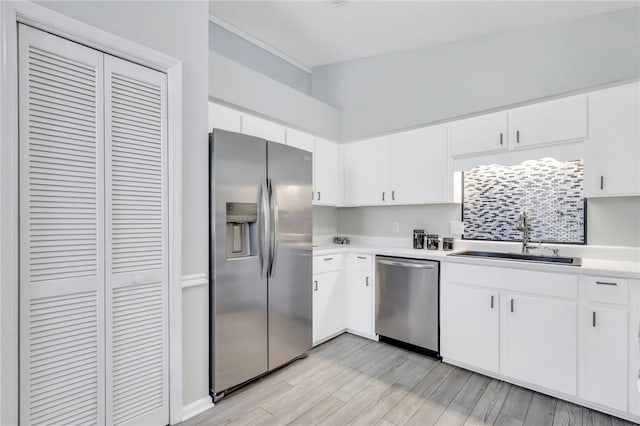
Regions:
M 389 204 L 389 144 L 374 138 L 345 145 L 345 205 Z

